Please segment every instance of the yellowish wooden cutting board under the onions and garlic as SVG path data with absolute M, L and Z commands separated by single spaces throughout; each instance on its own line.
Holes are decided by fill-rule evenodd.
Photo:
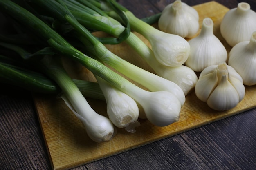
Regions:
M 202 25 L 202 20 L 205 17 L 213 20 L 214 34 L 221 40 L 229 52 L 231 47 L 227 45 L 220 35 L 220 22 L 229 9 L 214 1 L 197 5 L 194 8 L 199 13 L 200 25 Z M 101 35 L 101 33 L 98 33 L 98 35 Z M 139 34 L 137 35 L 148 44 L 145 38 Z M 146 62 L 140 59 L 135 52 L 132 52 L 132 49 L 126 44 L 108 45 L 107 47 L 110 51 L 129 62 L 152 71 Z M 69 68 L 67 67 L 73 78 L 95 81 L 94 77 L 85 68 L 79 64 L 73 64 L 72 66 L 69 65 Z M 71 71 L 71 68 L 74 67 L 76 69 Z M 65 170 L 254 108 L 256 106 L 255 92 L 256 86 L 246 86 L 246 94 L 243 101 L 236 108 L 220 112 L 211 110 L 206 103 L 197 99 L 194 91 L 192 91 L 186 96 L 186 102 L 182 107 L 178 122 L 166 127 L 157 127 L 146 119 L 140 119 L 141 126 L 137 128 L 136 133 L 128 133 L 126 130 L 119 128 L 117 135 L 111 141 L 104 143 L 95 143 L 88 138 L 84 126 L 72 111 L 65 106 L 62 99 L 57 99 L 55 96 L 35 94 L 34 102 L 49 157 L 52 161 L 52 167 L 55 170 Z M 88 102 L 96 112 L 106 115 L 106 103 L 104 101 L 88 99 Z

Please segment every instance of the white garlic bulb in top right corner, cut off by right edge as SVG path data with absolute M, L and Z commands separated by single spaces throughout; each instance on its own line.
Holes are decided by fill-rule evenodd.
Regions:
M 252 33 L 256 31 L 256 12 L 250 8 L 248 3 L 241 2 L 237 8 L 225 14 L 220 24 L 220 33 L 230 46 L 249 41 Z

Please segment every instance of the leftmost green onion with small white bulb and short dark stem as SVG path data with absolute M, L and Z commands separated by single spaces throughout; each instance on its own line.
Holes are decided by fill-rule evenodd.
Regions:
M 85 130 L 93 141 L 109 141 L 115 135 L 115 127 L 112 122 L 96 113 L 83 97 L 76 84 L 68 76 L 57 56 L 45 56 L 41 63 L 45 66 L 45 72 L 54 79 L 63 91 L 61 96 L 67 106 L 84 124 Z

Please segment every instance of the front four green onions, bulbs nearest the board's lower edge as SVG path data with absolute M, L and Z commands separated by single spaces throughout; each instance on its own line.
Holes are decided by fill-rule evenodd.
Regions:
M 99 28 L 97 25 L 94 25 L 93 28 L 90 27 L 90 24 L 88 27 L 83 25 L 81 18 L 77 19 L 76 14 L 79 13 L 75 13 L 69 6 L 70 2 L 79 4 L 76 1 L 34 0 L 26 3 L 22 0 L 16 0 L 15 2 L 19 5 L 11 0 L 0 1 L 0 9 L 4 14 L 13 18 L 18 26 L 22 26 L 22 31 L 29 31 L 29 34 L 40 44 L 38 48 L 42 50 L 38 50 L 29 57 L 24 57 L 22 55 L 24 51 L 19 53 L 22 51 L 20 46 L 16 46 L 16 48 L 12 48 L 10 44 L 2 44 L 2 46 L 19 53 L 24 63 L 36 64 L 40 71 L 50 78 L 47 81 L 48 84 L 54 84 L 54 92 L 52 93 L 62 91 L 63 99 L 85 125 L 88 136 L 92 140 L 101 142 L 112 139 L 115 135 L 115 126 L 126 128 L 129 132 L 135 132 L 135 127 L 139 126 L 137 121 L 139 117 L 138 106 L 142 107 L 146 118 L 156 126 L 168 126 L 178 120 L 181 107 L 185 102 L 182 89 L 167 79 L 126 62 L 103 45 L 103 43 L 120 43 L 127 40 L 131 35 L 130 22 L 123 12 L 114 5 L 114 2 L 108 1 L 109 4 L 114 5 L 115 16 L 118 15 L 123 25 L 126 26 L 122 26 L 121 31 L 114 34 L 118 38 L 95 37 L 89 30 L 104 31 L 100 26 L 100 23 L 103 22 L 98 22 Z M 99 3 L 93 0 L 88 2 L 90 2 L 89 5 Z M 94 8 L 95 6 L 91 7 Z M 89 12 L 94 12 L 89 7 L 87 9 Z M 93 17 L 88 17 L 86 19 L 88 23 L 92 23 L 90 19 L 94 20 Z M 119 23 L 119 25 L 121 24 Z M 106 99 L 109 118 L 92 110 L 79 90 L 77 81 L 72 80 L 63 68 L 61 55 L 81 63 L 95 75 L 99 84 L 90 85 L 95 85 L 95 89 L 98 90 L 99 87 L 101 88 L 102 93 L 100 94 L 103 94 Z M 131 83 L 105 66 L 104 63 L 145 86 L 149 91 Z M 4 72 L 2 68 L 7 70 L 7 67 L 16 71 L 13 72 L 14 74 L 23 72 L 21 69 L 17 71 L 14 66 L 2 64 L 2 67 L 1 64 L 0 62 L 1 74 Z M 30 73 L 29 71 L 23 72 L 23 75 L 33 77 L 29 75 Z M 39 91 L 40 89 L 38 88 Z M 119 104 L 116 101 L 119 101 Z

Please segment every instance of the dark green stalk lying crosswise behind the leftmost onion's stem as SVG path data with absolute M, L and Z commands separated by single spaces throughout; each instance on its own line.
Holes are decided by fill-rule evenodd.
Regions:
M 2 61 L 4 56 L 0 55 L 0 82 L 12 84 L 35 93 L 58 94 L 61 93 L 59 86 L 48 76 L 27 69 L 27 66 L 16 66 Z M 6 58 L 6 57 L 4 57 Z M 12 61 L 13 62 L 13 61 Z M 20 61 L 19 61 L 20 63 Z M 96 82 L 73 79 L 84 97 L 105 100 L 105 97 Z

